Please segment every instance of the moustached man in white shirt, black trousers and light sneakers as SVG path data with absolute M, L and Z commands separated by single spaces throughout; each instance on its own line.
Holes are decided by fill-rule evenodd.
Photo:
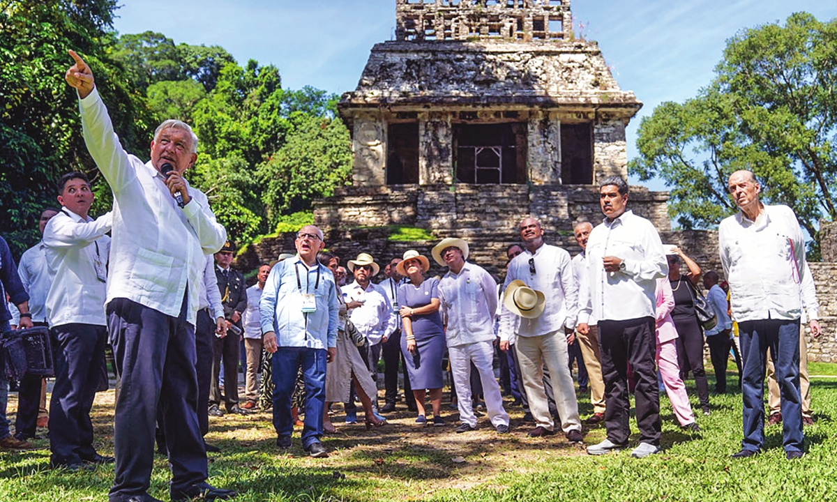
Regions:
M 587 448 L 591 455 L 617 451 L 630 436 L 628 365 L 636 378 L 639 446 L 631 455 L 660 451 L 660 388 L 657 387 L 656 279 L 668 274 L 663 243 L 654 225 L 628 210 L 628 184 L 607 177 L 599 185 L 604 221 L 590 233 L 584 250 L 588 280 L 581 288 L 578 332 L 587 336 L 591 315 L 598 320 L 604 380 L 604 425 L 608 438 Z

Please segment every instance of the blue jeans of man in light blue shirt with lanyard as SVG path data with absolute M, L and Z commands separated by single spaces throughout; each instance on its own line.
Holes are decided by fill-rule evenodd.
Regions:
M 306 384 L 306 419 L 302 428 L 302 447 L 318 443 L 322 437 L 322 412 L 326 407 L 326 350 L 306 347 L 279 347 L 270 358 L 273 363 L 273 427 L 280 436 L 290 436 L 290 397 L 296 374 L 302 367 Z

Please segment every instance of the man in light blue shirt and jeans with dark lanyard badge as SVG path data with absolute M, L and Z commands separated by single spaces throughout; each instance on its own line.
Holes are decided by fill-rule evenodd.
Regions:
M 290 397 L 302 368 L 306 384 L 306 419 L 302 447 L 311 457 L 326 457 L 322 437 L 326 406 L 326 362 L 334 360 L 340 304 L 331 270 L 316 255 L 325 247 L 314 225 L 296 234 L 294 258 L 276 264 L 264 283 L 259 312 L 264 350 L 273 365 L 273 425 L 279 448 L 290 448 L 294 423 Z

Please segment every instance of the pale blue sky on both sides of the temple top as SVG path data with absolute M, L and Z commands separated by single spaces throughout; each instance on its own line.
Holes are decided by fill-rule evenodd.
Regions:
M 727 38 L 798 11 L 835 18 L 837 0 L 573 0 L 572 10 L 620 87 L 644 103 L 628 129 L 631 158 L 639 119 L 708 84 Z M 335 93 L 355 88 L 369 49 L 395 30 L 395 0 L 126 0 L 116 15 L 120 33 L 151 30 L 175 43 L 220 45 L 239 64 L 275 64 L 285 88 Z

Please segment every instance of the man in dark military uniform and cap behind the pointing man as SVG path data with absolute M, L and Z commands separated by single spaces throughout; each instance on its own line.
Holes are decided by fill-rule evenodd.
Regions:
M 239 356 L 241 355 L 241 315 L 247 310 L 247 284 L 244 274 L 230 267 L 233 263 L 233 244 L 223 243 L 215 254 L 215 277 L 221 292 L 223 316 L 227 327 L 234 328 L 224 336 L 216 336 L 213 347 L 212 388 L 209 391 L 209 414 L 213 417 L 223 415 L 219 406 L 221 389 L 218 377 L 221 376 L 221 358 L 223 357 L 223 401 L 228 413 L 247 413 L 239 407 Z M 236 334 L 236 331 L 238 334 Z

